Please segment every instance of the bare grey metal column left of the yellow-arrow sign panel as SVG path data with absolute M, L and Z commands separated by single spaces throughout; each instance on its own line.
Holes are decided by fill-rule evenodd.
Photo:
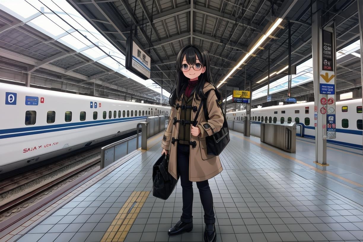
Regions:
M 321 43 L 322 43 L 322 11 L 318 2 L 315 2 L 312 6 L 313 10 L 313 23 L 311 26 L 312 33 L 312 54 L 313 54 L 313 77 L 314 77 L 314 115 L 317 115 L 317 126 L 315 127 L 315 163 L 320 165 L 326 164 L 326 130 L 323 129 L 323 124 L 326 125 L 326 116 L 321 112 L 318 112 L 323 105 L 319 102 L 322 94 L 319 94 L 320 88 L 320 70 L 322 67 L 322 54 L 321 54 Z M 313 110 L 309 110 L 311 112 Z

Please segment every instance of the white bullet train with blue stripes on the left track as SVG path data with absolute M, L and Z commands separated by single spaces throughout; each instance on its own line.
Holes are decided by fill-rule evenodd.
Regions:
M 0 83 L 0 174 L 135 130 L 170 107 Z M 125 133 L 125 132 L 124 132 Z

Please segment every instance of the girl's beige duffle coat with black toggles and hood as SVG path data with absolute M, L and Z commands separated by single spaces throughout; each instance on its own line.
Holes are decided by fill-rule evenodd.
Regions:
M 207 91 L 215 89 L 213 85 L 209 82 L 205 82 L 203 93 Z M 192 106 L 197 106 L 199 108 L 199 101 L 195 99 L 196 91 L 194 92 L 194 98 Z M 183 100 L 183 95 L 181 96 L 181 100 Z M 179 103 L 181 105 L 181 100 L 176 99 L 176 104 Z M 196 147 L 192 148 L 190 145 L 189 152 L 189 181 L 204 181 L 208 180 L 217 174 L 219 174 L 223 168 L 221 165 L 221 161 L 219 156 L 207 155 L 207 145 L 205 143 L 205 137 L 212 135 L 213 131 L 218 132 L 223 126 L 224 116 L 223 112 L 218 104 L 218 99 L 215 94 L 215 91 L 210 91 L 207 98 L 207 107 L 208 107 L 208 122 L 205 120 L 203 106 L 200 108 L 199 115 L 197 118 L 197 126 L 200 128 L 199 136 L 192 136 L 190 134 L 190 141 L 196 141 Z M 173 119 L 180 119 L 180 111 L 181 108 L 176 109 L 175 107 L 171 107 L 170 118 L 168 127 L 164 133 L 162 140 L 162 148 L 166 149 L 169 153 L 169 173 L 177 179 L 177 166 L 176 166 L 176 147 L 178 142 L 175 141 L 174 144 L 171 143 L 171 138 L 178 138 L 179 125 L 177 122 L 173 124 Z M 191 120 L 194 120 L 197 112 L 191 112 Z M 213 131 L 212 131 L 213 129 Z

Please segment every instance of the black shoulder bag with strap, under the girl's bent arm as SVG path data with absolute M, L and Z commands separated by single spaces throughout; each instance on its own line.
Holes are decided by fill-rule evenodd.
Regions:
M 211 90 L 209 90 L 206 93 L 206 97 L 208 97 L 208 94 L 210 91 Z M 208 122 L 209 115 L 208 115 L 206 99 L 207 98 L 203 98 L 201 102 L 203 102 L 205 120 L 207 120 L 207 122 Z M 207 154 L 208 155 L 219 155 L 229 142 L 229 130 L 228 130 L 228 125 L 227 125 L 227 119 L 223 112 L 222 107 L 220 105 L 219 105 L 219 107 L 221 108 L 221 111 L 222 111 L 222 114 L 224 117 L 224 122 L 223 122 L 223 126 L 220 129 L 220 131 L 214 132 L 212 129 L 213 135 L 205 137 L 205 142 L 207 143 Z

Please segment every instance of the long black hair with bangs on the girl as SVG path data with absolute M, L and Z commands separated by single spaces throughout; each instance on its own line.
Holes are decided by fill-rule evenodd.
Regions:
M 222 99 L 221 93 L 214 85 L 212 80 L 208 53 L 200 46 L 187 45 L 184 46 L 179 51 L 179 54 L 176 57 L 176 75 L 175 75 L 174 88 L 169 97 L 170 106 L 175 106 L 177 98 L 179 101 L 181 100 L 181 95 L 184 93 L 185 88 L 187 88 L 188 86 L 189 78 L 185 77 L 183 71 L 181 71 L 181 63 L 183 62 L 183 58 L 185 56 L 185 59 L 187 60 L 187 63 L 189 65 L 195 65 L 196 63 L 195 55 L 197 55 L 199 62 L 205 67 L 204 73 L 201 73 L 200 76 L 198 77 L 198 84 L 196 86 L 196 91 L 195 91 L 196 99 L 199 100 L 199 98 L 206 98 L 206 96 L 203 93 L 203 87 L 205 82 L 211 83 L 216 89 L 217 98 L 219 100 Z

